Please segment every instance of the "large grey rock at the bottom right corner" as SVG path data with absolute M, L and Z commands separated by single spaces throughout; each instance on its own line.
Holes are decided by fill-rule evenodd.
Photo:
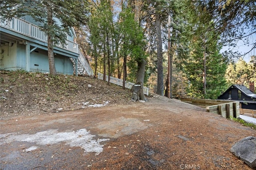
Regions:
M 256 137 L 243 138 L 234 144 L 230 151 L 251 168 L 256 168 Z

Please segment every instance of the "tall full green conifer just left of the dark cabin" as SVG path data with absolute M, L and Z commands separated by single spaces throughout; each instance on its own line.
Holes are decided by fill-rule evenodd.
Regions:
M 198 2 L 200 4 L 200 2 Z M 214 31 L 209 13 L 203 6 L 188 4 L 187 38 L 189 55 L 184 58 L 182 67 L 188 78 L 187 94 L 194 98 L 216 99 L 227 87 L 224 77 L 227 59 L 220 54 L 220 38 Z M 204 66 L 204 56 L 206 65 Z M 203 83 L 206 69 L 206 89 Z M 206 94 L 204 94 L 206 91 Z

